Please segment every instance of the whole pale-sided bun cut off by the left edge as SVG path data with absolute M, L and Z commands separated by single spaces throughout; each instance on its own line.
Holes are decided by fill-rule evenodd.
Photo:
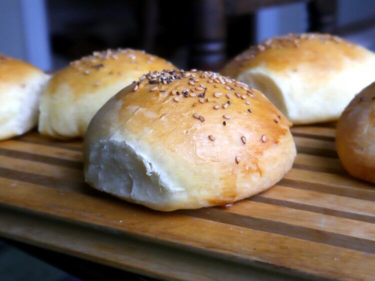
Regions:
M 36 126 L 40 95 L 49 75 L 0 54 L 0 140 Z

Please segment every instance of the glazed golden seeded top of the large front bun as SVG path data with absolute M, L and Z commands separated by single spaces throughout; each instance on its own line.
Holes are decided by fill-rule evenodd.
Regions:
M 246 136 L 255 155 L 261 154 L 291 126 L 261 92 L 214 72 L 148 73 L 114 99 L 121 109 L 114 115 L 113 124 L 120 127 L 108 126 L 105 131 L 119 129 L 139 135 L 152 129 L 153 137 L 165 142 L 170 150 L 190 143 L 192 147 L 185 149 L 203 154 L 204 146 L 211 146 L 214 141 L 217 152 L 221 151 L 212 154 L 217 160 L 231 157 L 234 161 L 234 152 L 243 148 L 242 136 Z M 196 130 L 204 141 L 190 139 Z M 195 147 L 197 142 L 204 146 Z M 236 149 L 224 149 L 227 146 Z M 182 147 L 179 151 L 183 152 Z

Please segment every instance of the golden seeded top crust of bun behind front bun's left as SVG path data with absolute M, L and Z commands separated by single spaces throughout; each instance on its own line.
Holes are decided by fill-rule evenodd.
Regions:
M 53 95 L 63 83 L 78 97 L 98 87 L 106 87 L 122 75 L 139 77 L 144 72 L 175 68 L 170 62 L 157 56 L 133 49 L 117 49 L 93 52 L 71 62 L 56 74 L 48 84 L 46 92 Z

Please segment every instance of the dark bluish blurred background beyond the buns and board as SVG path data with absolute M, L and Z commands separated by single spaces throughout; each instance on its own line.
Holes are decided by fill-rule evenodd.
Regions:
M 375 51 L 375 0 L 0 0 L 0 53 L 46 71 L 117 47 L 218 70 L 251 44 L 306 31 Z M 0 242 L 1 281 L 78 280 L 18 248 Z

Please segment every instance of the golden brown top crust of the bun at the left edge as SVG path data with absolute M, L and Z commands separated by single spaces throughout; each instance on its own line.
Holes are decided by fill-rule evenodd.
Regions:
M 0 84 L 22 83 L 30 74 L 43 73 L 35 66 L 0 53 Z

